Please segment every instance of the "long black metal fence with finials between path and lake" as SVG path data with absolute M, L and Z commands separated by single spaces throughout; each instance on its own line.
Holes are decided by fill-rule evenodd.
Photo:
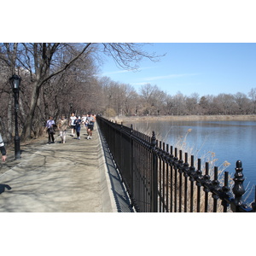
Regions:
M 256 211 L 256 195 L 250 207 L 242 201 L 240 160 L 235 177 L 231 180 L 224 172 L 221 181 L 217 166 L 210 170 L 209 163 L 202 166 L 193 155 L 158 142 L 154 131 L 148 137 L 132 125 L 129 128 L 102 117 L 97 117 L 97 123 L 137 212 Z

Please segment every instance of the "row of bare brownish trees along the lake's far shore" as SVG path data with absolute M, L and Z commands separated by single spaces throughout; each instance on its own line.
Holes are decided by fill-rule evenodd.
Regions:
M 119 84 L 109 78 L 99 80 L 104 92 L 104 114 L 115 115 L 212 115 L 256 113 L 256 88 L 248 94 L 218 94 L 185 96 L 170 95 L 157 85 L 144 84 L 139 92 L 130 84 Z

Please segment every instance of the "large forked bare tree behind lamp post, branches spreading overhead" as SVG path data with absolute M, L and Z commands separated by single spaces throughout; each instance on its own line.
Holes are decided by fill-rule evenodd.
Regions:
M 32 123 L 35 117 L 38 101 L 41 100 L 40 92 L 48 88 L 49 95 L 53 79 L 84 56 L 90 56 L 96 52 L 103 52 L 113 57 L 119 67 L 126 69 L 137 68 L 142 58 L 154 61 L 157 56 L 143 51 L 143 44 L 61 44 L 61 43 L 33 43 L 33 44 L 1 44 L 0 58 L 9 65 L 12 73 L 17 67 L 22 67 L 30 76 L 31 96 L 28 112 L 23 127 L 22 137 L 31 137 Z M 94 55 L 95 57 L 95 55 Z M 85 82 L 84 82 L 85 83 Z M 53 83 L 54 84 L 54 83 Z M 46 96 L 46 95 L 45 95 Z M 96 96 L 96 95 L 95 95 Z M 55 103 L 56 102 L 55 96 Z M 94 101 L 94 100 L 92 100 Z M 45 106 L 46 108 L 47 105 Z

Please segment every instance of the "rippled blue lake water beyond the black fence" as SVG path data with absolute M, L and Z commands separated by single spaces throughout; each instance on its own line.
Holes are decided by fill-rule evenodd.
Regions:
M 130 124 L 125 124 L 131 126 Z M 214 166 L 225 161 L 225 168 L 234 177 L 236 160 L 241 160 L 245 177 L 244 187 L 248 190 L 256 185 L 256 122 L 255 121 L 150 121 L 132 124 L 134 129 L 146 134 L 156 133 L 157 139 L 184 152 L 192 153 L 202 162 L 214 160 Z M 251 195 L 243 196 L 253 201 Z

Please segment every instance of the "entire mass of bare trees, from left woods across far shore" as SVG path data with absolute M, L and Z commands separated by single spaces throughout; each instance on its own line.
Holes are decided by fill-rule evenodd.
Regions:
M 116 115 L 249 114 L 256 112 L 256 88 L 247 95 L 169 95 L 157 85 L 135 90 L 98 75 L 102 56 L 119 67 L 137 69 L 143 58 L 159 60 L 143 44 L 0 44 L 0 132 L 7 143 L 15 134 L 14 96 L 9 77 L 21 77 L 19 129 L 21 139 L 38 137 L 49 115 L 54 119 L 73 112 Z M 171 85 L 171 84 L 170 84 Z M 178 88 L 177 88 L 178 90 Z

